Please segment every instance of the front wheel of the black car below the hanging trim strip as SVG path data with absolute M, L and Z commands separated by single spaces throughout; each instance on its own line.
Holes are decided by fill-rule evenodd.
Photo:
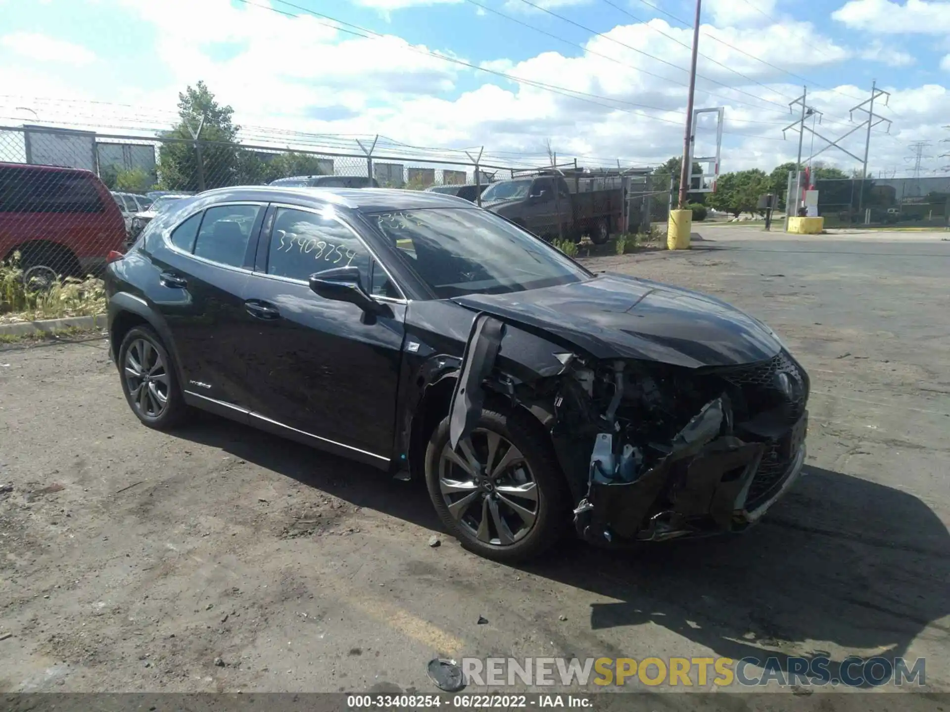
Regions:
M 540 555 L 569 521 L 561 467 L 541 426 L 519 411 L 482 412 L 453 451 L 448 418 L 426 452 L 428 494 L 467 550 L 505 563 Z

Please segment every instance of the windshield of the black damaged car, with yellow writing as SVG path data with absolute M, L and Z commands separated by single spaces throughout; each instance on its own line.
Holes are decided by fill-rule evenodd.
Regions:
M 591 276 L 541 239 L 485 211 L 441 208 L 367 217 L 439 299 L 537 290 Z

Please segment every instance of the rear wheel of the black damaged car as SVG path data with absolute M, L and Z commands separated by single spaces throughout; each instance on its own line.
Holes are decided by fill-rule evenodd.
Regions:
M 189 408 L 175 364 L 155 331 L 145 326 L 129 329 L 118 365 L 125 401 L 143 425 L 168 430 L 185 419 Z

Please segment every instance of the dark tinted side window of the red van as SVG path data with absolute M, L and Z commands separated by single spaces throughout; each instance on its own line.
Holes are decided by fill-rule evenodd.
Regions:
M 91 174 L 0 169 L 0 213 L 103 213 Z

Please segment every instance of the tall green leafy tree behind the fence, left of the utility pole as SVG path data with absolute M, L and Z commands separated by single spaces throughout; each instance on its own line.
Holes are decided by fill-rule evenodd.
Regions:
M 221 106 L 204 82 L 188 86 L 179 94 L 180 122 L 162 132 L 159 149 L 159 175 L 165 190 L 200 190 L 198 150 L 192 131 L 198 131 L 204 173 L 204 188 L 217 188 L 239 182 L 240 151 L 232 120 L 234 109 Z M 202 124 L 203 119 L 203 124 Z M 175 141 L 183 140 L 183 141 Z

